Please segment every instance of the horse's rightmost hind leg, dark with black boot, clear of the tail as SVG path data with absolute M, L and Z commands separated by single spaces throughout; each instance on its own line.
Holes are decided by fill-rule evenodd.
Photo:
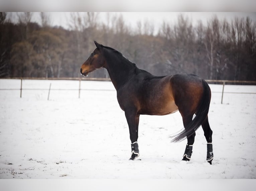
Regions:
M 208 116 L 206 117 L 206 119 L 202 123 L 202 128 L 204 130 L 204 135 L 205 135 L 205 138 L 206 138 L 206 141 L 207 141 L 206 160 L 207 160 L 207 162 L 212 164 L 212 160 L 213 160 L 212 134 L 213 134 L 213 131 L 212 131 L 210 125 L 209 125 Z

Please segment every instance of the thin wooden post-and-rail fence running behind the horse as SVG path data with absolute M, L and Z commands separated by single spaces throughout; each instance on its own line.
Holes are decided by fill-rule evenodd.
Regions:
M 104 82 L 109 82 L 111 81 L 110 78 L 0 78 L 0 79 L 16 79 L 16 80 L 21 80 L 20 83 L 20 89 L 0 89 L 0 90 L 20 90 L 20 97 L 22 96 L 22 90 L 48 90 L 48 99 L 49 99 L 49 94 L 50 90 L 68 90 L 68 91 L 73 91 L 73 90 L 78 90 L 79 91 L 79 98 L 80 98 L 80 92 L 81 90 L 92 90 L 92 89 L 81 89 L 81 81 L 104 81 Z M 73 81 L 79 81 L 79 89 L 51 89 L 51 84 L 49 89 L 40 89 L 40 88 L 22 88 L 22 80 L 73 80 Z M 206 80 L 207 83 L 218 83 L 222 84 L 222 92 L 215 92 L 215 93 L 222 93 L 221 96 L 221 103 L 223 101 L 223 94 L 224 94 L 224 87 L 225 84 L 256 84 L 256 81 L 239 81 L 239 80 Z M 225 94 L 256 94 L 252 92 L 225 92 Z

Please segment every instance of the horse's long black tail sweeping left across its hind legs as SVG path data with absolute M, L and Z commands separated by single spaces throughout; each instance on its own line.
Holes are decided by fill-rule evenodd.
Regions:
M 186 130 L 183 130 L 177 135 L 173 136 L 175 138 L 172 140 L 172 142 L 178 142 L 183 140 L 185 137 L 191 136 L 207 117 L 211 101 L 211 89 L 205 80 L 203 80 L 203 87 L 204 93 L 201 100 L 201 105 L 195 118 L 187 125 Z

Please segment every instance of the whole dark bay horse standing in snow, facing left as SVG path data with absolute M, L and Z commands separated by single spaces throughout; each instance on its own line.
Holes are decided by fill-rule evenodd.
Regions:
M 207 140 L 207 161 L 212 164 L 212 133 L 208 122 L 211 90 L 205 80 L 193 74 L 153 76 L 126 59 L 113 48 L 94 41 L 96 49 L 81 67 L 81 75 L 106 68 L 117 91 L 117 100 L 129 126 L 131 157 L 139 156 L 138 126 L 140 115 L 166 115 L 179 111 L 184 130 L 175 135 L 174 142 L 187 138 L 183 159 L 189 161 L 195 131 L 202 125 Z M 193 118 L 193 115 L 195 117 Z

